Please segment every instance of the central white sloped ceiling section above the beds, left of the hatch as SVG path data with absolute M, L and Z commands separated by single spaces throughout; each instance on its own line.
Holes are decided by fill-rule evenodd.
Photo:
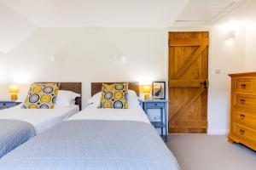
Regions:
M 0 0 L 40 27 L 166 27 L 187 0 Z

